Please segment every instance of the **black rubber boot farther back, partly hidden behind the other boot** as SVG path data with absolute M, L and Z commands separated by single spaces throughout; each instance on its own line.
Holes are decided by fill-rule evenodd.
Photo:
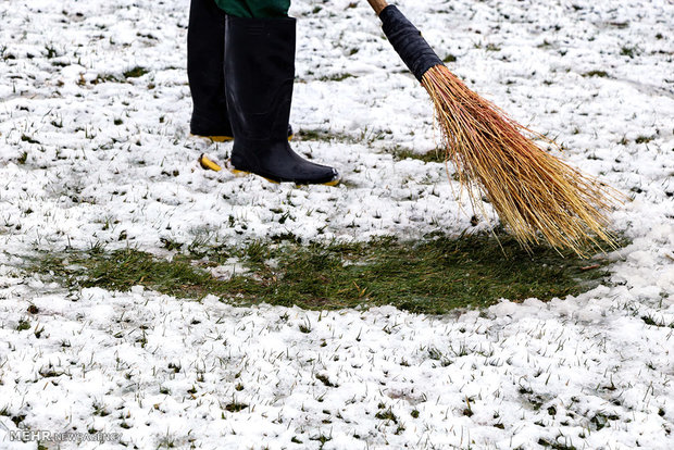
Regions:
M 187 77 L 192 96 L 190 132 L 232 138 L 225 97 L 225 12 L 213 0 L 191 0 Z

